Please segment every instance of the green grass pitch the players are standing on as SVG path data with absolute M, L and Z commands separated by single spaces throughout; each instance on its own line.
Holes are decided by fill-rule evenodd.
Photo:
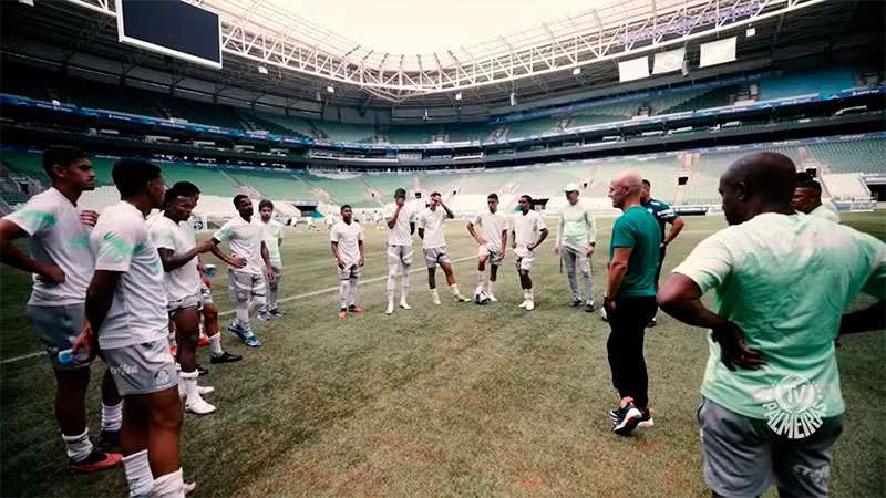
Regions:
M 666 270 L 722 218 L 687 218 Z M 886 237 L 882 214 L 845 221 Z M 553 220 L 549 220 L 553 224 Z M 594 261 L 597 301 L 611 219 L 599 224 Z M 340 321 L 328 234 L 286 231 L 282 297 L 287 317 L 254 323 L 265 341 L 248 350 L 228 332 L 240 363 L 209 365 L 200 383 L 218 412 L 186 415 L 182 457 L 195 496 L 571 495 L 709 496 L 701 476 L 696 408 L 707 359 L 704 332 L 660 315 L 646 340 L 656 427 L 630 438 L 610 433 L 616 403 L 606 361 L 608 325 L 569 308 L 553 239 L 533 269 L 536 309 L 522 300 L 512 255 L 501 302 L 431 303 L 416 241 L 411 311 L 385 317 L 384 231 L 368 228 L 360 287 L 362 315 Z M 446 226 L 462 291 L 476 286 L 475 246 L 464 222 Z M 204 235 L 206 237 L 207 235 Z M 553 235 L 552 235 L 553 238 Z M 214 258 L 209 258 L 214 259 Z M 214 297 L 231 309 L 218 261 Z M 373 281 L 369 281 L 375 279 Z M 443 283 L 442 273 L 437 281 Z M 2 496 L 125 496 L 122 468 L 73 475 L 52 417 L 53 381 L 24 317 L 29 278 L 0 269 L 0 452 Z M 311 294 L 313 293 L 313 294 Z M 445 284 L 441 297 L 447 298 Z M 227 324 L 230 314 L 223 319 Z M 886 495 L 886 341 L 883 331 L 844 339 L 838 351 L 846 397 L 836 445 L 834 496 Z M 103 365 L 93 366 L 92 432 L 97 433 Z M 767 496 L 773 495 L 770 490 Z

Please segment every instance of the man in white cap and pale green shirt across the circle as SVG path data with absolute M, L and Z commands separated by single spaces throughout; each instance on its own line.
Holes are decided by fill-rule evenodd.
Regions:
M 573 308 L 581 305 L 576 267 L 581 271 L 585 282 L 585 311 L 594 311 L 594 280 L 590 272 L 590 257 L 597 245 L 597 225 L 588 206 L 578 199 L 578 185 L 569 184 L 564 189 L 567 204 L 560 208 L 557 225 L 557 245 L 554 252 L 566 263 L 566 276 L 573 292 Z

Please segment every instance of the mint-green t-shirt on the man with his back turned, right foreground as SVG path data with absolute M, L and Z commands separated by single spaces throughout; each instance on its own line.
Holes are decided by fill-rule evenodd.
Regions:
M 834 339 L 859 291 L 886 298 L 886 245 L 822 218 L 770 212 L 712 235 L 673 272 L 713 289 L 714 312 L 766 362 L 732 372 L 709 339 L 705 397 L 771 426 L 785 413 L 843 413 Z

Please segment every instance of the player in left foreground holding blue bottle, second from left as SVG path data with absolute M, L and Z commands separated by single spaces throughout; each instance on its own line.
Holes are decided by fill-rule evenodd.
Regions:
M 104 210 L 90 243 L 95 272 L 86 292 L 84 331 L 74 350 L 100 346 L 123 395 L 123 466 L 130 496 L 183 497 L 178 374 L 166 341 L 163 262 L 145 216 L 163 206 L 157 166 L 121 159 L 112 170 L 121 201 Z M 97 344 L 95 343 L 97 340 Z

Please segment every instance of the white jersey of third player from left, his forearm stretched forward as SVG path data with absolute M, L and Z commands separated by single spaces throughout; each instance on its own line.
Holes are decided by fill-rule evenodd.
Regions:
M 182 255 L 194 249 L 197 241 L 194 230 L 186 230 L 187 221 L 176 224 L 166 216 L 148 218 L 147 231 L 151 240 L 157 249 L 169 249 L 176 255 Z M 200 291 L 203 280 L 197 270 L 197 257 L 190 258 L 186 263 L 173 271 L 164 272 L 164 283 L 166 286 L 166 299 L 178 301 L 179 299 L 194 295 Z

